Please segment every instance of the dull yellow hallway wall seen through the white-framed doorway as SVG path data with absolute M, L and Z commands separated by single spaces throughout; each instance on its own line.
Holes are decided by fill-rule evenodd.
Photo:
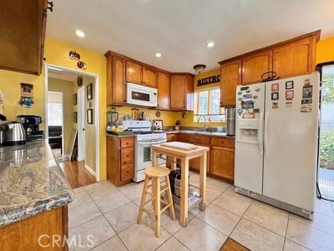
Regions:
M 73 82 L 63 79 L 48 79 L 49 91 L 59 91 L 63 93 L 63 126 L 64 126 L 64 151 L 66 153 L 73 130 Z

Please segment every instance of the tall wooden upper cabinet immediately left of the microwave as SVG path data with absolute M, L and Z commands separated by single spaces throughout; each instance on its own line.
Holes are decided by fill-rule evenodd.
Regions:
M 108 56 L 106 65 L 106 105 L 125 105 L 125 59 L 119 56 Z

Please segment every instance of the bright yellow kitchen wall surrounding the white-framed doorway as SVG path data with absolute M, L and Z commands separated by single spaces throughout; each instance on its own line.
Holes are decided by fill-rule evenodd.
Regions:
M 45 39 L 45 58 L 46 63 L 51 63 L 67 68 L 77 68 L 77 61 L 68 58 L 68 52 L 76 50 L 81 55 L 88 68 L 86 72 L 95 73 L 100 77 L 100 179 L 106 179 L 106 58 L 102 53 L 87 50 L 77 45 L 64 43 L 54 38 Z M 35 104 L 32 108 L 22 108 L 19 106 L 19 83 L 33 84 Z M 40 76 L 15 73 L 7 70 L 0 70 L 0 89 L 7 92 L 4 114 L 8 119 L 15 119 L 18 114 L 35 114 L 44 119 L 45 116 L 45 86 L 44 73 Z M 44 128 L 44 125 L 41 126 Z M 88 147 L 95 148 L 95 145 Z

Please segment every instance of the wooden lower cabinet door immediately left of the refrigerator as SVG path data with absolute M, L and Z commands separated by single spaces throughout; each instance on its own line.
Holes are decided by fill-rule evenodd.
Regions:
M 211 149 L 211 173 L 216 176 L 234 179 L 234 149 L 212 146 Z

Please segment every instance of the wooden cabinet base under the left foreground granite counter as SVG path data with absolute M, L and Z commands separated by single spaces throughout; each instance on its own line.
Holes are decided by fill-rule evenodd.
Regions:
M 67 205 L 0 227 L 0 236 L 1 251 L 68 250 L 64 240 L 68 238 Z

